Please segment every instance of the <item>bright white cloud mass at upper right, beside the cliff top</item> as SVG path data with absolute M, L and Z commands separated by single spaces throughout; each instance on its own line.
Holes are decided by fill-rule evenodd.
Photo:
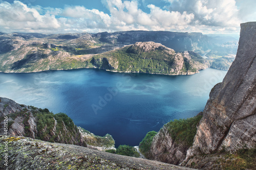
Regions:
M 242 22 L 235 0 L 166 0 L 170 10 L 195 15 L 195 23 L 212 27 L 239 27 Z

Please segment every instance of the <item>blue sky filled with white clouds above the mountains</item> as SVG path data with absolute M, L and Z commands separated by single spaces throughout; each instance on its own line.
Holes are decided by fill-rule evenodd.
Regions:
M 0 0 L 0 32 L 130 30 L 239 34 L 255 0 Z

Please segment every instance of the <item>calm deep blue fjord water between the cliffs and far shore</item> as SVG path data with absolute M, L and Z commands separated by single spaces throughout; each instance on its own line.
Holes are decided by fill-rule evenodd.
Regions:
M 77 126 L 138 145 L 148 131 L 204 109 L 211 88 L 227 71 L 191 76 L 122 74 L 99 69 L 0 73 L 0 96 L 19 104 L 67 113 Z

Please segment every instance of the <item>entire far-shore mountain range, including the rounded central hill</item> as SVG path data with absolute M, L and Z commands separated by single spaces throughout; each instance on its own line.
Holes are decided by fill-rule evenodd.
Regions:
M 142 52 L 138 42 L 141 42 L 140 45 L 157 47 Z M 237 45 L 236 39 L 232 37 L 166 31 L 48 35 L 1 33 L 0 71 L 36 72 L 97 67 L 120 72 L 194 74 L 210 66 L 228 69 L 236 55 Z M 119 57 L 115 56 L 117 53 Z M 200 57 L 205 54 L 207 60 Z M 183 60 L 179 66 L 175 65 L 175 56 L 181 56 Z

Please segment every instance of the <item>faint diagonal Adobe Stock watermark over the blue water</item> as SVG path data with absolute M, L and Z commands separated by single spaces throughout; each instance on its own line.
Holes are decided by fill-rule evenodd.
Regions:
M 133 74 L 130 74 L 129 76 L 125 76 L 126 74 L 123 74 L 122 77 L 125 77 L 127 80 L 125 82 L 117 82 L 114 87 L 108 87 L 104 95 L 99 96 L 99 102 L 97 104 L 92 104 L 92 109 L 95 114 L 98 114 L 98 110 L 102 110 L 103 107 L 105 107 L 114 96 L 116 96 L 120 90 L 120 88 L 124 87 L 126 83 L 129 83 L 132 80 L 132 77 L 134 77 Z M 130 89 L 134 89 L 136 87 L 136 84 L 133 84 L 133 86 Z

